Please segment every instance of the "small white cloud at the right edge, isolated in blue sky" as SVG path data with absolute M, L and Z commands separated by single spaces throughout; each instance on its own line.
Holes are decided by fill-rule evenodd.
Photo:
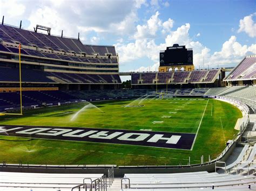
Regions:
M 256 23 L 253 21 L 254 16 L 256 16 L 256 12 L 240 19 L 238 32 L 245 32 L 252 38 L 256 37 Z

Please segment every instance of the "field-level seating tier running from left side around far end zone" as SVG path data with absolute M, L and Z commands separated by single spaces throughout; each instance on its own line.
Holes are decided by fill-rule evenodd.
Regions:
M 59 76 L 58 76 L 59 77 Z M 1 78 L 1 77 L 0 77 Z M 59 77 L 60 78 L 60 77 Z M 70 79 L 70 78 L 69 78 Z M 165 96 L 203 96 L 221 95 L 223 97 L 240 100 L 242 103 L 256 111 L 256 87 L 253 86 L 233 86 L 218 88 L 180 88 L 158 90 L 164 92 Z M 82 91 L 23 91 L 23 106 L 41 106 L 42 103 L 57 105 L 57 103 L 68 103 L 74 101 L 96 101 L 108 99 L 127 99 L 142 97 L 145 95 L 156 96 L 156 91 L 146 89 L 134 90 L 82 90 Z M 4 108 L 19 107 L 19 92 L 0 93 L 0 111 Z

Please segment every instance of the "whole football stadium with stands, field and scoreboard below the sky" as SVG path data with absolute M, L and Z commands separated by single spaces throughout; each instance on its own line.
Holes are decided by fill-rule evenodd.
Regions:
M 255 141 L 254 55 L 199 70 L 173 44 L 120 72 L 114 46 L 2 19 L 0 190 L 255 189 Z

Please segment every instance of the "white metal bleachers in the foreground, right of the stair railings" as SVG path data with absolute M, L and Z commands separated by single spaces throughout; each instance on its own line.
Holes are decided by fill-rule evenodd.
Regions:
M 174 174 L 125 174 L 123 190 L 146 189 L 226 189 L 248 188 L 248 184 L 255 185 L 255 176 L 242 176 L 230 174 L 218 174 L 207 172 L 174 173 Z M 128 180 L 129 179 L 129 180 Z

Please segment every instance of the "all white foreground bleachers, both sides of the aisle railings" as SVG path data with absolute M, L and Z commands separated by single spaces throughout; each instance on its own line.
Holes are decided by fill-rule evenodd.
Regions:
M 208 172 L 173 173 L 173 174 L 125 174 L 124 179 L 115 179 L 113 185 L 107 180 L 105 185 L 91 183 L 91 180 L 101 179 L 103 174 L 44 174 L 44 173 L 9 173 L 0 172 L 0 187 L 2 191 L 50 191 L 71 190 L 71 188 L 83 184 L 87 185 L 80 190 L 201 190 L 201 189 L 227 189 L 246 190 L 248 185 L 255 189 L 256 179 L 254 175 L 232 175 Z M 90 180 L 91 179 L 91 180 Z M 130 180 L 130 183 L 129 183 Z M 121 188 L 121 181 L 122 187 Z M 118 183 L 118 185 L 114 185 Z M 113 188 L 114 187 L 114 188 Z M 73 189 L 78 190 L 78 189 Z

